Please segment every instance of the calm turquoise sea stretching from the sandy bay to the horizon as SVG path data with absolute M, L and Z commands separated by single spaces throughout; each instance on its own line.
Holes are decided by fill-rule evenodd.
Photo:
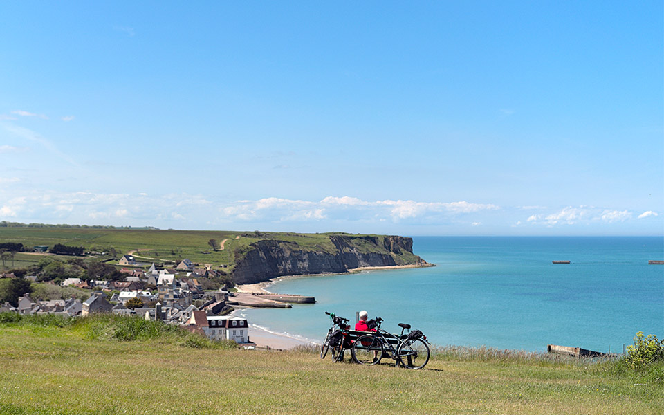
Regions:
M 637 331 L 664 337 L 663 237 L 414 237 L 433 268 L 289 277 L 273 293 L 316 304 L 241 313 L 269 331 L 320 342 L 331 311 L 406 322 L 434 344 L 623 351 Z M 552 264 L 569 260 L 571 264 Z

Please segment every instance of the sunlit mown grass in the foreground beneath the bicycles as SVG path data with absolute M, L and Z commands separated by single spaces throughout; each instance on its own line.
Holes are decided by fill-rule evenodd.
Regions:
M 0 324 L 0 414 L 664 412 L 661 382 L 620 361 L 445 349 L 410 371 L 333 363 L 311 349 L 194 349 L 149 326 L 133 341 L 90 335 L 103 318 Z

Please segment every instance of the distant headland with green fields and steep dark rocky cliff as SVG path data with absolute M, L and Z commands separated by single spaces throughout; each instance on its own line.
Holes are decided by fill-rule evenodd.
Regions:
M 197 269 L 215 270 L 218 284 L 255 284 L 285 275 L 372 267 L 432 266 L 413 253 L 412 238 L 344 232 L 159 230 L 3 221 L 0 244 L 12 251 L 12 268 L 30 268 L 44 255 L 62 260 L 89 257 L 138 269 L 153 263 L 174 268 L 188 260 Z

